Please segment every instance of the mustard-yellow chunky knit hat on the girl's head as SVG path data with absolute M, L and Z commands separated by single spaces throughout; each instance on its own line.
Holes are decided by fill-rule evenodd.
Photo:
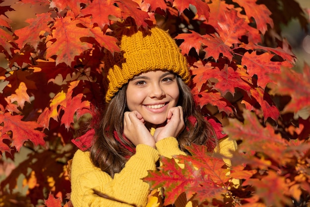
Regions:
M 134 76 L 142 72 L 162 69 L 179 75 L 185 83 L 190 80 L 185 57 L 168 32 L 154 27 L 148 32 L 138 31 L 123 35 L 120 54 L 108 60 L 108 89 L 105 101 L 109 102 L 117 91 Z M 122 57 L 119 57 L 121 55 Z

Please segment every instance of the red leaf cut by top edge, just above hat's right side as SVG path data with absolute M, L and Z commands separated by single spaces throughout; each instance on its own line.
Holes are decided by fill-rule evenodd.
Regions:
M 190 4 L 196 7 L 199 19 L 206 20 L 209 18 L 209 6 L 206 2 L 202 0 L 174 0 L 172 6 L 177 7 L 181 14 L 185 9 L 189 8 Z

